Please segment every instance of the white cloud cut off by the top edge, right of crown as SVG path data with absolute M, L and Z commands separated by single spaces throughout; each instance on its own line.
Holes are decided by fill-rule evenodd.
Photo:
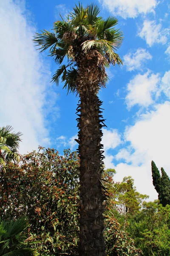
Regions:
M 99 0 L 101 2 L 101 0 Z M 155 7 L 159 2 L 157 0 L 103 0 L 102 4 L 112 12 L 113 15 L 126 18 L 135 18 L 139 14 L 147 14 L 154 12 Z

